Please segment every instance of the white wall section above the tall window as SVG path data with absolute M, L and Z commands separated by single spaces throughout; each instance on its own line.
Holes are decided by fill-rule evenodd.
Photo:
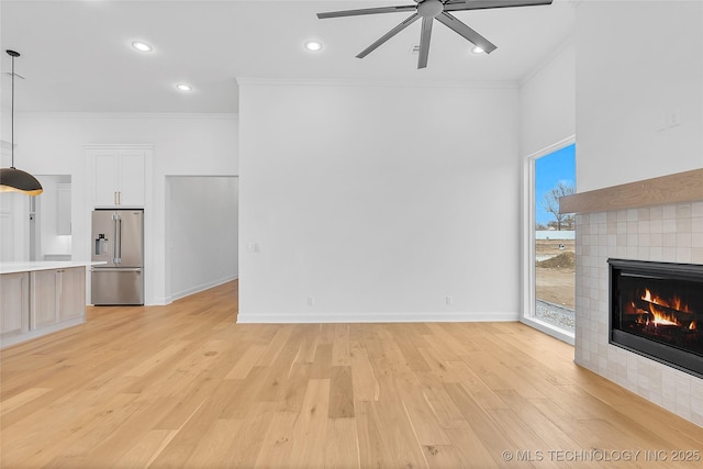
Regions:
M 520 87 L 520 153 L 536 154 L 574 134 L 576 47 L 569 40 Z

